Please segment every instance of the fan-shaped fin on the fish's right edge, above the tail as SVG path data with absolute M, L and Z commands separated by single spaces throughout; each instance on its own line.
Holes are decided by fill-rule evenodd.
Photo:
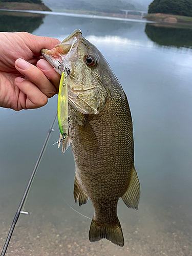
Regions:
M 129 187 L 127 188 L 126 192 L 121 197 L 121 199 L 123 200 L 123 202 L 126 204 L 127 207 L 137 210 L 138 204 L 139 204 L 139 198 L 140 198 L 140 184 L 139 184 L 139 179 L 137 177 L 135 167 L 133 165 Z

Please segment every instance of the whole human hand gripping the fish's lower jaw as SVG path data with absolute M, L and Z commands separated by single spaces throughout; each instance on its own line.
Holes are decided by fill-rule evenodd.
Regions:
M 54 48 L 59 40 L 2 32 L 0 41 L 0 106 L 16 111 L 44 106 L 57 93 L 60 75 L 40 59 L 40 50 Z

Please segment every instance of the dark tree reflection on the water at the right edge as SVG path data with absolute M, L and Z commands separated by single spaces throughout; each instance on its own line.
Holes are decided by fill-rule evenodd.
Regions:
M 159 46 L 192 48 L 192 30 L 146 25 L 145 33 Z

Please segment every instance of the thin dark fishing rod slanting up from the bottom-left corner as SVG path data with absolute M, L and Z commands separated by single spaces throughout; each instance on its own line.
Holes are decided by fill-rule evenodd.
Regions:
M 29 194 L 31 185 L 32 185 L 33 180 L 34 180 L 34 178 L 35 178 L 35 175 L 36 175 L 36 173 L 37 173 L 37 169 L 38 169 L 38 167 L 39 167 L 39 164 L 40 164 L 40 162 L 41 162 L 41 159 L 42 159 L 42 157 L 43 157 L 43 155 L 44 155 L 44 152 L 45 152 L 45 150 L 46 150 L 48 141 L 49 141 L 49 139 L 50 139 L 51 132 L 54 132 L 53 127 L 54 127 L 56 118 L 57 118 L 57 113 L 55 114 L 55 117 L 53 118 L 53 122 L 52 122 L 52 124 L 51 124 L 51 126 L 50 126 L 50 129 L 49 129 L 49 131 L 48 131 L 46 140 L 45 140 L 45 142 L 44 142 L 44 145 L 42 146 L 41 152 L 40 152 L 40 154 L 39 154 L 39 157 L 38 157 L 38 159 L 37 159 L 37 162 L 36 162 L 36 164 L 35 164 L 35 167 L 34 167 L 34 169 L 33 169 L 33 172 L 32 172 L 32 174 L 31 174 L 31 177 L 30 177 L 30 179 L 29 179 L 29 181 L 28 181 L 28 184 L 27 184 L 27 187 L 26 187 L 26 189 L 25 189 L 24 195 L 23 195 L 22 200 L 20 201 L 20 204 L 19 204 L 18 209 L 17 209 L 17 211 L 16 211 L 16 214 L 15 214 L 15 217 L 14 217 L 14 219 L 13 219 L 12 225 L 11 225 L 11 227 L 10 227 L 10 230 L 9 230 L 9 233 L 8 233 L 8 236 L 7 236 L 7 239 L 6 239 L 4 248 L 3 248 L 3 250 L 2 250 L 1 256 L 4 256 L 5 253 L 6 253 L 6 251 L 7 251 L 7 248 L 8 248 L 9 242 L 10 242 L 10 240 L 11 240 L 12 233 L 13 233 L 13 230 L 14 230 L 15 225 L 16 225 L 16 223 L 17 223 L 17 220 L 18 220 L 18 218 L 19 218 L 19 215 L 20 215 L 20 214 L 26 214 L 26 215 L 29 214 L 27 211 L 23 211 L 23 209 L 24 209 L 24 207 L 25 207 L 25 203 L 26 203 L 26 201 L 27 201 L 27 197 L 28 197 L 28 194 Z

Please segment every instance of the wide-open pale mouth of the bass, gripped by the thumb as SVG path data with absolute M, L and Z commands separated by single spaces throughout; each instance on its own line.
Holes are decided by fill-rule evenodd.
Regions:
M 60 75 L 63 71 L 69 73 L 71 70 L 70 62 L 78 59 L 77 48 L 82 38 L 80 29 L 76 29 L 52 50 L 42 49 L 41 54 L 54 67 L 57 73 Z

